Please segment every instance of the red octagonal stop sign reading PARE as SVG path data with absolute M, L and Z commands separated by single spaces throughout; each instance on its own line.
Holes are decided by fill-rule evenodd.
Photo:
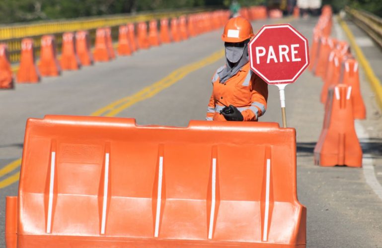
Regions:
M 268 84 L 293 83 L 309 65 L 307 39 L 289 24 L 263 26 L 248 47 L 251 69 Z

